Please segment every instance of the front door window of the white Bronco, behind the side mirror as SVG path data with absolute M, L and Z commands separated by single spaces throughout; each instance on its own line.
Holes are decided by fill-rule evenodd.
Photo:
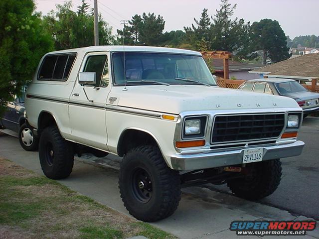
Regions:
M 96 73 L 96 87 L 107 87 L 109 85 L 109 68 L 107 55 L 89 56 L 84 66 L 84 72 Z

